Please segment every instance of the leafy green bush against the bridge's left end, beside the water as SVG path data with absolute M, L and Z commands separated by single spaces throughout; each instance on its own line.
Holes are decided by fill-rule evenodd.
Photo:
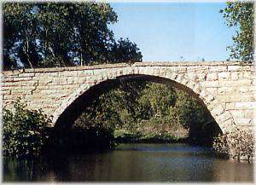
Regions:
M 37 156 L 49 138 L 49 124 L 41 110 L 27 110 L 20 101 L 15 102 L 14 111 L 3 108 L 3 154 Z

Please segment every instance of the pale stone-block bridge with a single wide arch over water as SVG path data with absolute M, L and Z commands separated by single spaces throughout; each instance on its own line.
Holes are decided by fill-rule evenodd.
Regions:
M 205 105 L 223 132 L 252 129 L 256 105 L 254 66 L 230 61 L 138 62 L 5 71 L 3 106 L 19 98 L 30 109 L 41 108 L 53 124 L 70 122 L 84 102 L 95 98 L 97 86 L 113 80 L 145 78 L 185 90 Z

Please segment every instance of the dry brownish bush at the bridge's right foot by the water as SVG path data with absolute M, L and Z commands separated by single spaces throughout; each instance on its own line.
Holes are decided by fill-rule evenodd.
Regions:
M 253 133 L 250 130 L 236 130 L 214 139 L 212 147 L 231 159 L 253 159 Z

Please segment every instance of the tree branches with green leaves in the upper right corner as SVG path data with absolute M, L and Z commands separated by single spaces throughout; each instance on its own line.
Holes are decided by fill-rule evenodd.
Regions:
M 234 44 L 230 49 L 230 59 L 253 62 L 253 2 L 228 2 L 221 9 L 228 26 L 236 27 Z

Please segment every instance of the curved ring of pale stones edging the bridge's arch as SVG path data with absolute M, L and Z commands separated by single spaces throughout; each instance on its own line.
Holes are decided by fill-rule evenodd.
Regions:
M 63 115 L 67 114 L 68 111 L 72 110 L 73 108 L 75 108 L 76 110 L 82 108 L 81 105 L 79 105 L 79 101 L 84 99 L 84 96 L 90 95 L 91 93 L 93 94 L 93 91 L 98 85 L 105 85 L 107 88 L 109 82 L 112 80 L 137 77 L 147 77 L 155 81 L 161 81 L 163 79 L 169 81 L 169 83 L 171 83 L 178 89 L 186 91 L 187 93 L 189 93 L 189 95 L 192 95 L 198 101 L 201 101 L 201 103 L 205 105 L 209 112 L 212 114 L 213 119 L 216 120 L 219 128 L 222 130 L 223 133 L 236 129 L 236 125 L 231 113 L 225 110 L 225 108 L 218 101 L 216 96 L 212 95 L 211 92 L 204 90 L 201 87 L 201 84 L 189 79 L 186 75 L 182 73 L 177 73 L 175 75 L 172 74 L 172 78 L 170 78 L 170 74 L 168 73 L 163 73 L 160 75 L 150 75 L 150 73 L 148 74 L 148 72 L 135 74 L 134 71 L 126 72 L 126 74 L 119 73 L 119 75 L 117 75 L 116 77 L 108 77 L 108 74 L 106 74 L 106 76 L 102 77 L 101 80 L 94 81 L 94 84 L 81 85 L 77 90 L 73 91 L 73 93 L 67 97 L 66 101 L 62 102 L 61 106 L 57 110 L 55 110 L 55 112 L 53 113 L 53 124 L 55 125 L 58 122 L 66 120 L 65 116 Z

